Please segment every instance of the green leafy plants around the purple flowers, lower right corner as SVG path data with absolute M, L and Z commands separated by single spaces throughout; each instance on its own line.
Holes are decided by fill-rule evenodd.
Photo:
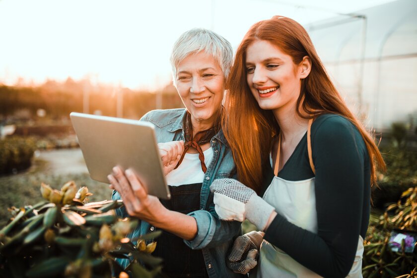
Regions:
M 371 217 L 364 240 L 364 278 L 417 277 L 417 187 L 401 197 L 382 216 Z M 393 242 L 398 233 L 404 234 L 401 243 Z

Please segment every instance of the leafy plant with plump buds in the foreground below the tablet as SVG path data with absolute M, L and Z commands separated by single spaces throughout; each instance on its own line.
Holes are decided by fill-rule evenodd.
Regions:
M 61 190 L 42 183 L 41 194 L 44 202 L 9 209 L 12 218 L 0 230 L 0 277 L 124 278 L 131 272 L 152 278 L 160 272 L 162 260 L 150 254 L 159 232 L 134 244 L 126 236 L 138 221 L 116 216 L 121 201 L 87 203 L 92 194 L 73 181 Z M 131 264 L 122 270 L 116 258 Z

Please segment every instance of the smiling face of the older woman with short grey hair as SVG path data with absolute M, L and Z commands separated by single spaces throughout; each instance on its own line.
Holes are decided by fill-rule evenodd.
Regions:
M 193 126 L 214 125 L 223 100 L 224 83 L 220 65 L 204 51 L 190 54 L 178 64 L 175 85 L 191 113 Z

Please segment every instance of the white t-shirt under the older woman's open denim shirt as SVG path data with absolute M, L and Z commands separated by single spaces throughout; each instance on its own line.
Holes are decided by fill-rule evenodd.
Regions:
M 207 167 L 213 159 L 213 149 L 210 147 L 204 154 L 204 163 Z M 184 159 L 178 168 L 169 172 L 165 178 L 166 183 L 171 186 L 203 182 L 205 173 L 201 168 L 199 154 L 186 153 Z

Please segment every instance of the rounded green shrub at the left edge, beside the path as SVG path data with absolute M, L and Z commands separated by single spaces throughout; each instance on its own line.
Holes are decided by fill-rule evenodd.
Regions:
M 30 167 L 35 150 L 32 138 L 13 136 L 0 140 L 0 174 Z

